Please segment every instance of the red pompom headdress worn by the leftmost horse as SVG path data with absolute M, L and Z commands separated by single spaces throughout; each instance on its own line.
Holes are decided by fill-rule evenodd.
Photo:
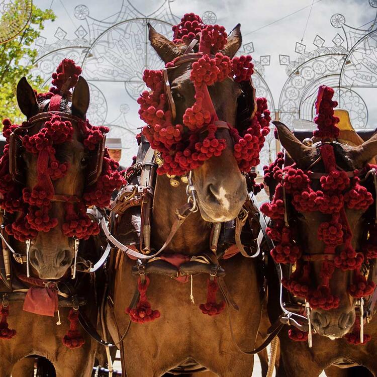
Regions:
M 63 59 L 56 73 L 52 74 L 52 84 L 47 93 L 37 94 L 38 102 L 50 100 L 49 111 L 59 111 L 63 98 L 70 100 L 70 88 L 77 81 L 81 68 L 73 60 Z M 23 148 L 37 158 L 38 182 L 32 188 L 22 187 L 16 183 L 9 172 L 9 142 L 10 134 L 19 127 L 27 127 L 28 122 L 14 125 L 9 119 L 3 121 L 3 135 L 7 139 L 4 155 L 0 159 L 0 206 L 10 213 L 18 212 L 17 220 L 6 226 L 8 234 L 19 241 L 35 238 L 38 232 L 48 232 L 56 227 L 58 221 L 50 218 L 51 201 L 54 197 L 53 181 L 64 177 L 68 170 L 68 163 L 60 163 L 55 156 L 55 147 L 69 142 L 73 135 L 73 126 L 69 120 L 62 120 L 57 114 L 51 113 L 49 120 L 44 122 L 38 133 L 29 135 L 21 130 Z M 87 150 L 93 150 L 102 141 L 104 134 L 109 132 L 107 127 L 91 126 L 86 120 L 77 118 L 79 132 L 83 135 L 83 144 Z M 63 233 L 68 237 L 87 239 L 90 235 L 99 233 L 98 224 L 93 223 L 86 215 L 86 207 L 96 205 L 106 207 L 110 204 L 113 190 L 119 189 L 124 178 L 119 174 L 118 162 L 112 160 L 105 152 L 102 172 L 96 184 L 86 187 L 86 192 L 78 203 L 70 203 L 67 198 L 66 222 L 63 224 Z

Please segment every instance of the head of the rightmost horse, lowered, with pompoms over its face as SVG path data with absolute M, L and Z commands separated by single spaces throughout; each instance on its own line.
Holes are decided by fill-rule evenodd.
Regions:
M 365 242 L 371 237 L 368 226 L 374 223 L 370 219 L 375 213 L 371 205 L 375 189 L 373 179 L 368 179 L 365 171 L 368 161 L 377 154 L 377 134 L 356 147 L 336 141 L 309 146 L 298 140 L 285 125 L 279 122 L 275 125 L 281 145 L 301 169 L 300 182 L 310 179 L 310 189 L 305 189 L 307 194 L 292 193 L 290 186 L 286 187 L 289 221 L 293 220 L 297 227 L 291 229 L 293 233 L 290 234 L 301 251 L 297 254 L 296 271 L 283 284 L 291 292 L 295 289 L 305 291 L 292 293 L 305 296 L 309 301 L 313 308 L 310 318 L 317 333 L 331 339 L 339 338 L 355 323 L 356 299 L 369 296 L 374 289 L 374 284 L 367 282 L 361 273 L 361 264 L 369 266 L 371 263 Z M 337 166 L 337 172 L 333 174 L 324 174 L 327 158 L 331 159 L 331 154 L 326 157 L 321 151 L 324 146 L 333 149 Z M 364 171 L 359 175 L 363 180 L 353 176 L 357 171 Z M 287 170 L 286 182 L 290 182 L 289 174 Z M 334 195 L 336 191 L 332 194 L 326 191 L 327 183 L 340 182 L 340 179 L 329 179 L 330 175 L 341 176 L 346 182 L 337 195 Z M 311 195 L 313 203 L 310 203 Z M 301 200 L 306 202 L 300 203 Z M 318 287 L 317 290 L 314 287 Z

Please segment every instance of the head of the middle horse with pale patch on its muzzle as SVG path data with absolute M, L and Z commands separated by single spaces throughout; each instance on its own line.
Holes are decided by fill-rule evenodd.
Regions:
M 229 130 L 228 127 L 222 127 L 220 124 L 236 127 L 237 107 L 239 99 L 244 95 L 242 85 L 227 74 L 224 79 L 207 81 L 208 84 L 204 87 L 193 78 L 193 68 L 197 69 L 199 64 L 204 64 L 198 52 L 200 46 L 198 48 L 196 45 L 192 47 L 191 53 L 190 51 L 185 53 L 190 41 L 169 41 L 151 26 L 149 26 L 149 40 L 167 67 L 171 101 L 169 102 L 169 98 L 167 100 L 170 104 L 170 112 L 173 106 L 175 114 L 173 117 L 169 114 L 166 119 L 170 117 L 171 125 L 178 129 L 174 131 L 177 132 L 178 138 L 180 138 L 179 132 L 182 135 L 187 131 L 192 132 L 190 139 L 186 140 L 186 145 L 175 153 L 174 160 L 167 167 L 170 157 L 167 156 L 168 150 L 166 151 L 167 158 L 164 159 L 165 163 L 160 167 L 159 173 L 182 176 L 191 171 L 202 218 L 208 222 L 234 219 L 246 200 L 246 181 L 234 154 L 235 139 L 232 129 Z M 220 49 L 221 55 L 216 55 L 216 58 L 208 64 L 215 65 L 215 59 L 223 59 L 230 64 L 241 46 L 241 40 L 240 25 L 237 25 Z M 207 55 L 208 61 L 209 56 Z M 206 68 L 203 69 L 206 71 Z M 251 109 L 255 107 L 254 100 L 255 98 L 249 99 L 248 105 Z M 206 114 L 203 109 L 210 111 Z M 215 119 L 223 122 L 210 122 L 211 117 L 212 121 L 215 120 L 214 116 Z M 207 120 L 206 117 L 209 119 Z M 142 119 L 145 120 L 143 116 Z M 209 122 L 217 124 L 217 127 L 213 125 L 202 127 L 203 123 Z M 146 136 L 148 137 L 148 131 Z M 150 139 L 148 137 L 148 140 Z M 183 144 L 181 140 L 178 144 L 179 142 Z M 153 142 L 151 146 L 159 149 L 158 145 L 153 145 Z

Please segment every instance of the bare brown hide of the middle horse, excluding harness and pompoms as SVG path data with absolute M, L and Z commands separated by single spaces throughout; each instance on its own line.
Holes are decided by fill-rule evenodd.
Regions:
M 149 40 L 164 62 L 181 55 L 187 47 L 170 42 L 151 27 Z M 237 26 L 228 37 L 223 52 L 233 57 L 240 46 L 241 34 Z M 194 103 L 190 70 L 191 64 L 184 63 L 168 73 L 178 123 L 181 123 L 185 110 Z M 209 87 L 209 91 L 219 119 L 235 124 L 240 86 L 227 78 Z M 225 139 L 227 147 L 219 157 L 212 157 L 192 170 L 200 211 L 187 217 L 178 229 L 166 248 L 169 253 L 194 256 L 207 251 L 211 223 L 234 219 L 245 202 L 246 182 L 233 155 L 233 140 L 226 129 L 218 129 L 217 137 Z M 186 202 L 184 184 L 172 187 L 169 177 L 157 176 L 151 222 L 154 249 L 158 250 L 166 241 L 176 221 L 176 209 Z M 125 218 L 122 221 L 128 221 Z M 117 236 L 122 241 L 122 235 Z M 113 250 L 115 259 L 114 292 L 109 299 L 114 305 L 107 307 L 107 324 L 114 340 L 119 340 L 130 323 L 125 309 L 132 301 L 137 278 L 131 274 L 135 261 L 125 253 Z M 222 260 L 221 265 L 227 273 L 225 282 L 230 296 L 239 305 L 239 311 L 227 307 L 215 317 L 202 314 L 198 308 L 199 303 L 206 301 L 208 275 L 196 274 L 193 277 L 192 293 L 196 304 L 190 299 L 190 284 L 181 284 L 167 276 L 151 275 L 148 298 L 152 308 L 161 312 L 161 318 L 131 324 L 121 343 L 122 369 L 128 377 L 161 376 L 187 360 L 194 360 L 219 376 L 251 375 L 253 356 L 241 352 L 236 343 L 242 349 L 250 350 L 255 346 L 261 316 L 256 263 L 237 254 Z M 228 315 L 233 323 L 234 339 Z

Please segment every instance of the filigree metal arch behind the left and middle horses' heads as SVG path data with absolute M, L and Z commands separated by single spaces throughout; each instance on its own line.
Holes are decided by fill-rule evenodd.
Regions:
M 83 68 L 82 74 L 89 83 L 91 98 L 95 99 L 90 102 L 87 113 L 91 123 L 110 125 L 112 136 L 122 137 L 131 146 L 136 146 L 134 136 L 138 126 L 127 120 L 129 105 L 145 88 L 142 80 L 144 69 L 162 66 L 149 44 L 147 23 L 169 38 L 172 36 L 171 26 L 179 22 L 171 11 L 171 1 L 160 2 L 155 11 L 143 14 L 130 0 L 123 0 L 120 10 L 105 20 L 92 18 L 88 7 L 78 5 L 74 16 L 81 24 L 74 31 L 76 38 L 67 39 L 67 32 L 58 27 L 54 34 L 56 42 L 47 44 L 45 37 L 36 41 L 38 58 L 33 73 L 42 76 L 48 85 L 59 61 L 64 57 L 74 59 Z M 216 14 L 211 11 L 204 12 L 202 18 L 209 24 L 217 21 Z M 253 52 L 253 42 L 246 41 L 239 54 Z M 269 108 L 274 109 L 272 93 L 264 78 L 264 66 L 270 64 L 270 56 L 262 55 L 259 61 L 254 59 L 253 63 L 257 96 L 266 97 Z M 106 86 L 110 84 L 119 94 L 115 99 L 108 94 Z M 114 100 L 121 100 L 119 113 L 110 119 L 109 105 Z

